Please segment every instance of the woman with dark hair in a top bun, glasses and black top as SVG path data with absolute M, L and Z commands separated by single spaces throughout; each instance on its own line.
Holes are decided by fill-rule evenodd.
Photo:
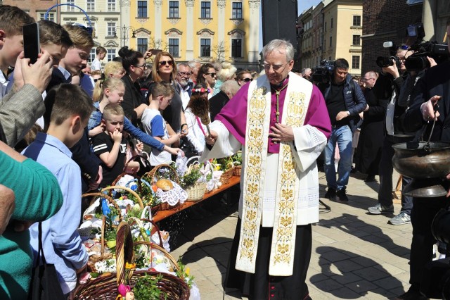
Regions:
M 124 46 L 119 50 L 119 56 L 122 58 L 122 65 L 127 72 L 122 77 L 125 85 L 125 94 L 121 105 L 124 108 L 125 116 L 131 120 L 133 125 L 139 126 L 141 125 L 142 113 L 147 108 L 147 104 L 137 81 L 144 75 L 146 60 L 141 52 L 129 49 L 128 46 Z

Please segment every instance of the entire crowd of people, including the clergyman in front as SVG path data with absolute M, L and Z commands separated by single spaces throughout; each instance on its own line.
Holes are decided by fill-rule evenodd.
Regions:
M 2 299 L 27 299 L 39 244 L 68 298 L 88 260 L 77 232 L 82 194 L 111 185 L 124 168 L 147 168 L 144 152 L 152 168 L 180 151 L 205 160 L 240 150 L 242 192 L 225 285 L 250 299 L 310 299 L 306 275 L 311 224 L 319 221 L 321 153 L 327 199 L 349 201 L 353 161 L 366 182 L 380 175 L 379 203 L 368 208 L 377 215 L 394 213 L 392 145 L 412 141 L 433 119 L 432 140 L 447 139 L 448 104 L 434 110 L 435 94 L 448 92 L 439 94 L 434 85 L 436 77 L 448 83 L 441 80 L 445 68 L 406 70 L 413 53 L 406 45 L 397 49 L 398 66 L 354 80 L 339 58 L 328 80 L 314 82 L 310 68 L 293 72 L 295 49 L 281 39 L 262 49 L 261 74 L 226 62 L 177 63 L 167 51 L 143 54 L 128 46 L 104 65 L 106 50 L 98 46 L 89 65 L 91 32 L 49 20 L 38 22 L 41 54 L 30 64 L 21 43 L 30 23 L 19 8 L 0 6 Z M 209 128 L 198 103 L 208 106 Z M 403 177 L 404 186 L 409 180 Z M 402 196 L 400 213 L 390 219 L 413 223 L 411 289 L 399 299 L 423 299 L 420 275 L 435 243 L 427 224 L 447 203 Z

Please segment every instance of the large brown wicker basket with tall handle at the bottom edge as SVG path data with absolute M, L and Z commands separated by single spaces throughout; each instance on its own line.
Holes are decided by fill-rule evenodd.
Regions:
M 151 246 L 155 247 L 154 244 Z M 158 247 L 158 246 L 156 246 Z M 159 249 L 163 251 L 164 249 Z M 171 256 L 172 257 L 172 256 Z M 131 230 L 128 223 L 120 223 L 117 230 L 117 273 L 98 277 L 87 282 L 85 285 L 79 285 L 71 294 L 71 300 L 88 300 L 88 299 L 105 299 L 114 300 L 117 297 L 117 287 L 121 284 L 131 285 L 131 288 L 136 284 L 136 280 L 143 275 L 150 275 L 152 277 L 162 276 L 158 281 L 158 287 L 162 292 L 167 293 L 167 299 L 187 300 L 190 292 L 188 285 L 184 280 L 166 273 L 151 272 L 147 270 L 129 271 L 129 281 L 125 278 L 125 263 L 133 263 L 134 250 L 133 239 L 131 237 Z M 173 258 L 172 258 L 173 259 Z

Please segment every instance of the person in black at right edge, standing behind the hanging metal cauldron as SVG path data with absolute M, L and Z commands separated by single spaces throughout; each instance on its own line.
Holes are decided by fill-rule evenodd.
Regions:
M 446 23 L 446 34 L 450 35 L 450 20 Z M 450 46 L 449 46 L 450 51 Z M 418 131 L 426 126 L 425 140 L 450 142 L 450 61 L 430 68 L 417 82 L 411 106 L 406 111 L 404 126 L 407 130 Z M 436 105 L 439 104 L 439 107 Z M 435 113 L 434 109 L 437 108 Z M 435 127 L 431 132 L 433 121 Z M 450 174 L 447 175 L 447 180 Z M 441 182 L 439 182 L 441 183 Z M 450 193 L 449 193 L 450 194 Z M 413 240 L 411 242 L 410 279 L 411 287 L 400 299 L 420 298 L 420 282 L 426 263 L 432 261 L 432 247 L 436 240 L 431 232 L 431 223 L 441 208 L 449 206 L 449 194 L 437 198 L 413 198 L 411 221 Z M 406 298 L 409 296 L 409 298 Z M 416 296 L 413 298 L 413 296 Z

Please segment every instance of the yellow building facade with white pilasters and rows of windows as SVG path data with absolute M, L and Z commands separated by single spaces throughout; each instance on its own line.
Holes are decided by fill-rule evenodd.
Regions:
M 260 0 L 131 1 L 129 45 L 162 49 L 176 61 L 229 61 L 240 68 L 259 63 Z

